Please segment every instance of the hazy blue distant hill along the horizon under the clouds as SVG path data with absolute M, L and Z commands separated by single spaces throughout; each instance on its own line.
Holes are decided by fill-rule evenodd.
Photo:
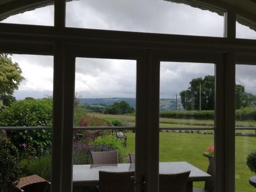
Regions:
M 81 104 L 100 104 L 107 106 L 121 101 L 125 101 L 134 107 L 136 105 L 135 98 L 80 98 Z M 177 100 L 177 109 L 183 110 L 180 99 Z M 160 111 L 169 110 L 176 110 L 176 99 L 160 99 Z

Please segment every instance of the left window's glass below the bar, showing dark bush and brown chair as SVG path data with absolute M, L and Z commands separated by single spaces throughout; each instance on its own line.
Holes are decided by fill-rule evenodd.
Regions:
M 3 174 L 0 181 L 1 190 L 5 185 L 14 182 L 14 185 L 24 191 L 34 191 L 33 185 L 30 184 L 41 181 L 42 190 L 49 192 L 52 131 L 0 130 L 0 142 L 0 164 Z M 15 183 L 18 179 L 19 182 Z

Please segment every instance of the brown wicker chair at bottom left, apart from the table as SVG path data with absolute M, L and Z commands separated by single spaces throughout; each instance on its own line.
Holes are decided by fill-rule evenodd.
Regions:
M 20 178 L 18 184 L 15 185 L 11 191 L 44 192 L 46 184 L 51 183 L 38 175 L 31 175 Z

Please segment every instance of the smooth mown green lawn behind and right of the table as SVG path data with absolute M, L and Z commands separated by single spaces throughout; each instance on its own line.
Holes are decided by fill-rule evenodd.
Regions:
M 126 152 L 135 151 L 135 134 L 127 133 Z M 202 155 L 206 148 L 214 144 L 214 135 L 160 133 L 160 162 L 187 161 L 206 172 L 208 159 Z M 246 157 L 255 150 L 255 137 L 236 137 L 236 191 L 253 192 L 248 183 L 253 176 L 246 165 Z M 195 187 L 203 187 L 204 182 L 195 182 Z

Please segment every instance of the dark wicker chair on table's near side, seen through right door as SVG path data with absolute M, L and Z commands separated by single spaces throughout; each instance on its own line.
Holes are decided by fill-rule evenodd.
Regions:
M 189 174 L 159 174 L 159 192 L 184 192 Z

